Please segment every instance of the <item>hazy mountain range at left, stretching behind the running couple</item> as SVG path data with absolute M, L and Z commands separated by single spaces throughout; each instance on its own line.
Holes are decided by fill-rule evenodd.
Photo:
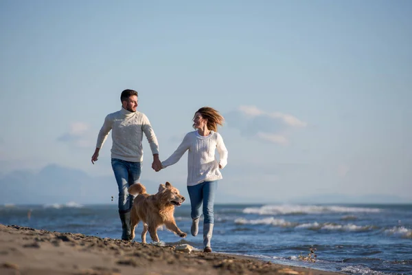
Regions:
M 159 182 L 141 179 L 146 186 Z M 117 185 L 114 175 L 91 177 L 82 170 L 56 164 L 45 166 L 38 173 L 16 170 L 0 176 L 0 204 L 51 204 L 70 201 L 88 203 L 117 203 Z M 186 193 L 187 190 L 181 190 Z M 111 197 L 113 196 L 113 201 Z M 187 202 L 190 202 L 187 196 Z M 219 192 L 216 203 L 242 201 L 236 196 Z

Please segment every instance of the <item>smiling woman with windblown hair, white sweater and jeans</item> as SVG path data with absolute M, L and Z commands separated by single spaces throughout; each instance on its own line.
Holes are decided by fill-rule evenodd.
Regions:
M 218 125 L 222 126 L 224 118 L 211 107 L 202 107 L 194 114 L 193 128 L 196 131 L 187 133 L 183 142 L 164 162 L 162 168 L 175 164 L 185 151 L 187 155 L 187 191 L 192 207 L 193 236 L 198 234 L 198 224 L 203 204 L 203 251 L 211 252 L 211 235 L 214 227 L 214 196 L 218 180 L 222 179 L 220 169 L 227 164 L 227 149 L 222 136 L 218 133 Z M 218 149 L 220 161 L 215 159 Z

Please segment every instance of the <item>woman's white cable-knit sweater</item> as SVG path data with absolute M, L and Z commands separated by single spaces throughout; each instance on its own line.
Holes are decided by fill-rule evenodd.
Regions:
M 218 150 L 220 161 L 215 158 Z M 187 133 L 179 147 L 162 162 L 162 168 L 166 168 L 181 159 L 186 151 L 187 155 L 187 186 L 194 186 L 203 181 L 222 179 L 219 164 L 224 168 L 227 164 L 227 148 L 219 133 L 211 131 L 207 136 L 199 135 L 197 131 Z

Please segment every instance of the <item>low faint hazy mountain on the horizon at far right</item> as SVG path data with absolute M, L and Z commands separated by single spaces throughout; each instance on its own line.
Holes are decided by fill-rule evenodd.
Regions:
M 306 197 L 296 197 L 290 199 L 288 203 L 412 203 L 411 199 L 402 198 L 393 195 L 339 195 L 339 194 L 320 194 Z

